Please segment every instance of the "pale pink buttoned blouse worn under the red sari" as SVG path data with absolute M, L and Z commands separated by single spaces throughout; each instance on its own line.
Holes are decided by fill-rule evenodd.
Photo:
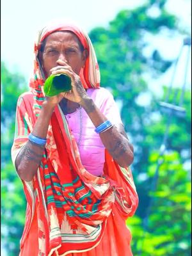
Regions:
M 93 99 L 97 108 L 111 121 L 112 124 L 122 124 L 118 107 L 113 95 L 105 88 L 88 89 L 88 95 Z M 81 162 L 86 170 L 95 176 L 102 175 L 104 167 L 104 145 L 95 126 L 83 108 L 65 115 L 68 126 L 79 147 Z

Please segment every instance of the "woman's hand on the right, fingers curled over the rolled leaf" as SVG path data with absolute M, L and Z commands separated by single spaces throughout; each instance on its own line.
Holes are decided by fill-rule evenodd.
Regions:
M 56 74 L 67 74 L 68 76 L 70 76 L 72 80 L 72 90 L 68 92 L 63 92 L 61 94 L 65 99 L 80 104 L 80 102 L 82 102 L 83 99 L 88 97 L 86 90 L 84 90 L 83 88 L 83 84 L 81 83 L 80 77 L 72 70 L 72 68 L 67 64 L 67 62 L 63 60 L 58 60 L 57 64 L 57 67 L 51 68 L 49 76 Z

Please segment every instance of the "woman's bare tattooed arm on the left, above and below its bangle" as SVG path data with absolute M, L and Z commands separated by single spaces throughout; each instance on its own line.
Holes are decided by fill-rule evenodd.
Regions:
M 33 135 L 39 138 L 47 137 L 47 130 L 53 110 L 53 106 L 47 105 L 46 102 L 43 104 L 40 115 L 38 116 L 38 119 L 33 127 Z M 26 181 L 33 179 L 33 176 L 38 170 L 38 166 L 42 160 L 44 148 L 45 147 L 40 147 L 35 143 L 28 141 L 20 150 L 15 161 L 15 166 L 20 179 Z

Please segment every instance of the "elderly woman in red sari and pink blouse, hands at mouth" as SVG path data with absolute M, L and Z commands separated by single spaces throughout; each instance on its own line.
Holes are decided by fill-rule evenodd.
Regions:
M 72 90 L 45 97 L 51 74 Z M 68 24 L 48 26 L 35 44 L 30 92 L 17 103 L 12 160 L 24 185 L 20 256 L 129 256 L 125 220 L 138 196 L 133 149 L 113 96 L 100 88 L 90 38 Z

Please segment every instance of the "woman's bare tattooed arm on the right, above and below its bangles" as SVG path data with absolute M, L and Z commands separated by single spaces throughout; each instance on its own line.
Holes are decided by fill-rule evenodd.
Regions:
M 107 120 L 106 116 L 100 112 L 90 97 L 83 99 L 80 104 L 95 127 Z M 113 126 L 99 135 L 102 143 L 108 149 L 109 154 L 111 154 L 120 166 L 127 167 L 132 163 L 134 158 L 133 147 L 128 141 L 123 125 L 122 127 Z

